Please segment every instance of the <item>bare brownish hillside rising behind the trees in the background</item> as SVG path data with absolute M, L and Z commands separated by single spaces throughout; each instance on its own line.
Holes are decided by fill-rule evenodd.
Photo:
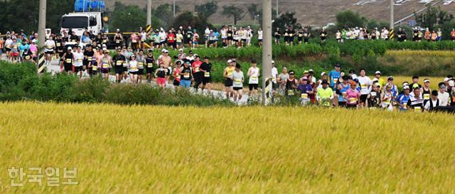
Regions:
M 105 0 L 108 7 L 112 7 L 115 1 L 121 1 L 124 4 L 137 4 L 141 7 L 146 6 L 147 0 Z M 212 0 L 176 0 L 176 4 L 181 10 L 194 11 L 194 5 L 204 4 Z M 210 17 L 210 22 L 215 24 L 232 23 L 232 18 L 226 18 L 221 15 L 223 5 L 238 5 L 245 8 L 250 4 L 262 5 L 261 0 L 215 0 L 218 1 L 218 13 Z M 278 0 L 279 11 L 294 11 L 299 23 L 309 26 L 324 26 L 326 23 L 335 23 L 335 16 L 339 11 L 353 10 L 368 18 L 376 21 L 389 21 L 389 0 Z M 395 6 L 395 21 L 409 16 L 414 11 L 424 8 L 424 4 L 419 1 L 429 0 L 395 0 L 396 2 L 404 1 L 402 5 Z M 272 0 L 272 7 L 275 7 L 275 0 Z M 437 6 L 455 14 L 455 1 L 449 5 L 443 5 L 442 0 Z M 154 6 L 159 4 L 172 4 L 171 0 L 153 0 Z M 413 18 L 411 18 L 413 19 Z M 240 21 L 240 23 L 252 23 L 249 16 Z

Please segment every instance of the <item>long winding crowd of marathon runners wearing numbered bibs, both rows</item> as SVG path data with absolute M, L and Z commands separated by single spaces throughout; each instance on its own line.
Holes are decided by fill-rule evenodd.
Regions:
M 321 39 L 324 40 L 326 34 L 321 31 Z M 381 32 L 377 29 L 373 33 L 366 33 L 365 28 L 348 29 L 347 31 L 338 31 L 336 38 L 341 39 L 379 39 L 382 33 L 387 33 L 387 29 Z M 398 38 L 403 38 L 402 30 L 397 32 Z M 176 33 L 176 34 L 174 34 Z M 440 41 L 440 32 L 435 36 L 427 36 L 427 32 L 419 38 L 420 32 L 417 32 L 417 38 L 414 41 L 420 41 L 422 37 L 425 40 Z M 210 30 L 207 28 L 203 33 L 206 47 L 218 46 L 218 38 L 221 38 L 223 46 L 248 46 L 251 45 L 253 31 L 250 26 L 245 28 L 234 28 L 224 26 L 218 32 L 217 29 Z M 257 31 L 259 35 L 259 45 L 262 41 L 262 30 Z M 375 34 L 375 36 L 373 36 Z M 400 36 L 401 34 L 401 36 Z M 455 40 L 455 31 L 452 31 L 452 37 Z M 140 29 L 140 33 L 132 33 L 129 41 L 124 39 L 122 33 L 117 30 L 114 36 L 114 46 L 116 54 L 113 57 L 107 50 L 109 38 L 106 35 L 98 34 L 94 36 L 85 31 L 81 37 L 75 36 L 71 32 L 63 32 L 63 35 L 55 35 L 49 31 L 45 34 L 45 63 L 49 65 L 53 58 L 60 62 L 60 70 L 70 74 L 78 75 L 101 75 L 109 80 L 109 73 L 115 75 L 116 82 L 131 82 L 133 84 L 152 81 L 156 82 L 159 87 L 173 85 L 173 87 L 194 87 L 196 90 L 208 90 L 210 92 L 210 83 L 212 82 L 212 64 L 207 57 L 193 53 L 189 50 L 184 53 L 183 48 L 198 48 L 199 35 L 197 31 L 188 27 L 186 31 L 179 28 L 177 31 L 171 29 L 166 33 L 163 28 L 149 34 L 155 37 L 153 39 L 153 48 L 146 50 L 144 45 L 147 33 Z M 284 35 L 277 29 L 274 33 L 277 43 L 280 42 L 281 36 L 284 36 L 284 43 L 292 45 L 294 37 L 297 37 L 297 43 L 307 43 L 311 33 L 308 28 L 299 28 L 294 31 L 291 27 L 287 28 Z M 383 36 L 385 37 L 387 36 Z M 406 35 L 404 36 L 406 37 Z M 436 38 L 434 38 L 436 37 Z M 399 39 L 400 41 L 400 39 Z M 7 33 L 6 41 L 0 41 L 0 50 L 6 51 L 8 60 L 12 62 L 36 60 L 38 53 L 38 34 L 31 33 L 26 36 L 21 33 Z M 168 48 L 179 50 L 178 55 L 171 57 Z M 160 49 L 161 55 L 155 58 L 153 49 Z M 242 99 L 243 90 L 247 83 L 248 96 L 257 97 L 259 87 L 260 70 L 257 62 L 252 60 L 252 65 L 248 67 L 246 74 L 242 72 L 240 63 L 235 58 L 228 60 L 226 68 L 223 70 L 225 78 L 226 97 L 232 98 L 234 102 Z M 274 65 L 274 63 L 272 63 Z M 313 70 L 304 72 L 303 77 L 295 77 L 293 70 L 283 68 L 278 74 L 277 68 L 272 68 L 273 89 L 276 95 L 285 97 L 298 97 L 303 105 L 317 104 L 325 107 L 347 107 L 354 109 L 362 108 L 379 108 L 379 109 L 400 109 L 405 110 L 429 110 L 432 107 L 455 105 L 455 84 L 454 78 L 448 75 L 438 85 L 436 90 L 429 88 L 430 80 L 425 79 L 424 85 L 419 85 L 419 77 L 413 77 L 412 82 L 400 83 L 402 92 L 400 93 L 397 85 L 393 82 L 393 77 L 387 77 L 383 80 L 381 73 L 375 72 L 375 77 L 370 79 L 365 70 L 360 70 L 359 75 L 355 75 L 354 70 L 348 74 L 340 70 L 339 65 L 335 65 L 334 70 L 329 73 L 322 72 L 319 80 L 316 81 Z M 245 77 L 246 75 L 246 77 Z

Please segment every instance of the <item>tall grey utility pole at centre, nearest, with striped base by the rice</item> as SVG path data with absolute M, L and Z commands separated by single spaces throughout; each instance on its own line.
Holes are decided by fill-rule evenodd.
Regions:
M 262 29 L 262 104 L 267 105 L 272 98 L 272 0 L 262 0 Z

